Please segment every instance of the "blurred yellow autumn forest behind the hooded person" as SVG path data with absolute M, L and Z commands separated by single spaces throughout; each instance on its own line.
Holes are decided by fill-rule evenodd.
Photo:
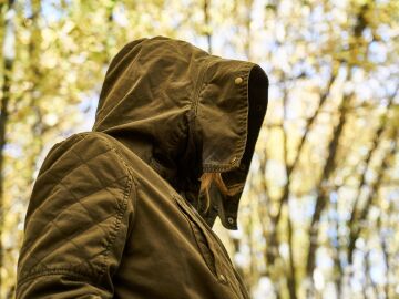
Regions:
M 259 63 L 269 107 L 237 231 L 253 298 L 399 298 L 399 1 L 0 0 L 0 298 L 32 184 L 91 131 L 112 56 L 167 35 Z

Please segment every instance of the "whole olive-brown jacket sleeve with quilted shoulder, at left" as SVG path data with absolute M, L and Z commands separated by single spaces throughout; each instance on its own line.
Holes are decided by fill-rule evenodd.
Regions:
M 112 298 L 112 276 L 132 229 L 135 185 L 99 133 L 55 144 L 31 193 L 16 297 Z

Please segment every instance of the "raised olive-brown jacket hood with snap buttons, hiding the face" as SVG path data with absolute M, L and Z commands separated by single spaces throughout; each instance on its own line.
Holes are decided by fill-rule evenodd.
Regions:
M 92 131 L 106 133 L 166 179 L 212 227 L 237 229 L 239 199 L 267 109 L 258 64 L 223 59 L 166 37 L 132 41 L 112 59 Z M 221 172 L 226 196 L 211 187 L 201 206 L 198 178 Z

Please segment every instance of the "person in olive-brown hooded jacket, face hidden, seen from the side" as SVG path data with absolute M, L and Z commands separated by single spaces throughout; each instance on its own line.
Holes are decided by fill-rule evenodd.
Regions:
M 256 63 L 161 35 L 127 43 L 92 131 L 39 171 L 17 298 L 249 298 L 212 227 L 237 229 L 267 90 Z

